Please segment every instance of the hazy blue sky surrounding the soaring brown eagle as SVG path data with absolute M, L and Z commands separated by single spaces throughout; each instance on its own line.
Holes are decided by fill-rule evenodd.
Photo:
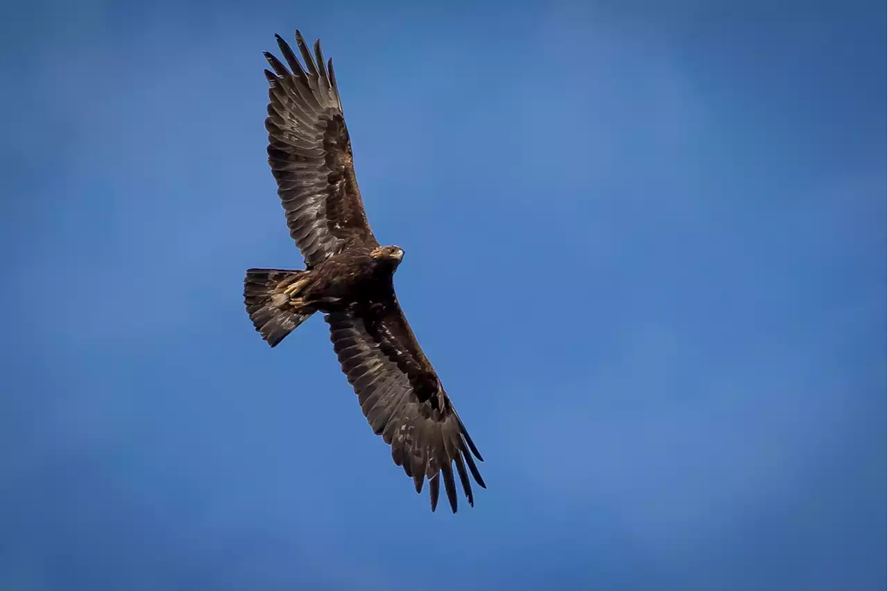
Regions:
M 880 588 L 888 15 L 671 5 L 14 7 L 0 588 Z M 456 516 L 320 318 L 272 351 L 243 311 L 301 265 L 261 54 L 296 27 L 487 460 Z

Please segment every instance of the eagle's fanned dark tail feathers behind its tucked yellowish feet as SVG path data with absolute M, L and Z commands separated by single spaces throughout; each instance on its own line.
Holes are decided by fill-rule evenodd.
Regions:
M 298 313 L 287 305 L 289 296 L 284 289 L 307 271 L 286 269 L 248 269 L 243 280 L 243 303 L 253 326 L 272 347 L 309 319 L 313 312 Z M 279 288 L 280 287 L 280 288 Z

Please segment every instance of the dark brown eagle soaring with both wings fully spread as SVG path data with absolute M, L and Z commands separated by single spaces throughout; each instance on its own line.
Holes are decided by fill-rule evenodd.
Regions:
M 305 270 L 247 270 L 247 313 L 274 347 L 321 312 L 361 412 L 391 445 L 392 460 L 413 478 L 416 493 L 428 479 L 434 511 L 443 480 L 456 513 L 456 464 L 474 506 L 469 474 L 487 485 L 472 456 L 483 459 L 398 303 L 392 279 L 404 250 L 381 245 L 370 229 L 333 60 L 325 64 L 320 40 L 312 54 L 297 30 L 304 67 L 281 35 L 274 37 L 287 64 L 264 53 L 273 70 L 265 70 L 268 163 Z

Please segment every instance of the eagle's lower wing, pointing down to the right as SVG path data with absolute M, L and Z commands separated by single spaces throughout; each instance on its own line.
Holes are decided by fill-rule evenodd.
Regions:
M 472 460 L 483 459 L 416 342 L 396 298 L 378 312 L 336 312 L 325 319 L 330 341 L 361 410 L 377 435 L 392 445 L 392 460 L 412 477 L 416 493 L 429 479 L 432 511 L 438 506 L 440 475 L 456 513 L 453 464 L 470 505 L 472 483 L 487 488 Z

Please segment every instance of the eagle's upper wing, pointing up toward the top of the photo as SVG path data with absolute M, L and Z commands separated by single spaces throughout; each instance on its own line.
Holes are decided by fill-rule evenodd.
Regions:
M 278 185 L 289 235 L 312 267 L 353 240 L 377 244 L 354 176 L 352 142 L 345 127 L 333 60 L 324 65 L 321 42 L 314 58 L 305 39 L 296 42 L 305 68 L 280 35 L 274 35 L 289 69 L 265 56 L 268 91 L 268 163 Z M 316 61 L 315 61 L 316 59 Z

